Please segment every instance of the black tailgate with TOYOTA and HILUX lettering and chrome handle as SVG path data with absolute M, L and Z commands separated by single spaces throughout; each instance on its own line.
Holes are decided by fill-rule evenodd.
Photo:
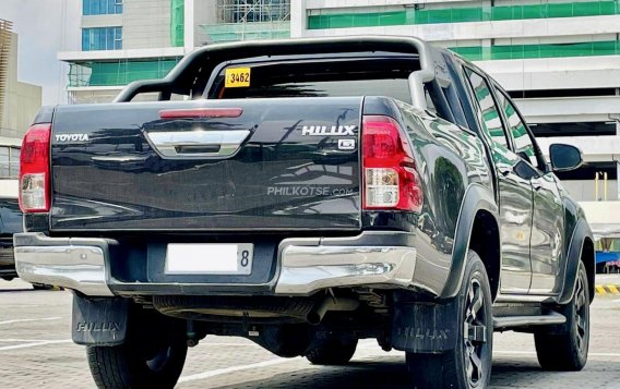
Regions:
M 59 107 L 50 228 L 357 230 L 361 102 Z

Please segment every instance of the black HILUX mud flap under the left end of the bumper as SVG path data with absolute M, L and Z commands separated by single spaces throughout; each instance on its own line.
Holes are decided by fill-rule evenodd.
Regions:
M 71 336 L 78 344 L 118 345 L 124 342 L 129 299 L 85 299 L 73 295 Z

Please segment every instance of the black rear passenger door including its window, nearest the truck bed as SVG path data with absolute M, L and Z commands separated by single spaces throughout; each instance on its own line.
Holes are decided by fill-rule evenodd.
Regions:
M 510 137 L 488 81 L 465 68 L 480 109 L 482 131 L 490 145 L 498 177 L 502 263 L 502 293 L 527 293 L 532 280 L 532 185 L 526 163 L 511 150 Z

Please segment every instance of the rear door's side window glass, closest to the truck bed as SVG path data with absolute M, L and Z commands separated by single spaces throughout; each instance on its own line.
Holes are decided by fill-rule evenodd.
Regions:
M 489 84 L 478 73 L 468 68 L 465 68 L 465 73 L 467 74 L 467 78 L 469 78 L 472 89 L 481 110 L 482 130 L 493 143 L 508 149 L 508 137 L 502 126 L 498 106 L 491 96 Z

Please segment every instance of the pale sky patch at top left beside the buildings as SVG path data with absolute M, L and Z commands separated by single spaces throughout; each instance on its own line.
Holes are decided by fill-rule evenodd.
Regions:
M 59 51 L 80 50 L 81 0 L 0 0 L 0 19 L 19 35 L 17 78 L 43 87 L 43 105 L 67 102 L 69 66 Z

